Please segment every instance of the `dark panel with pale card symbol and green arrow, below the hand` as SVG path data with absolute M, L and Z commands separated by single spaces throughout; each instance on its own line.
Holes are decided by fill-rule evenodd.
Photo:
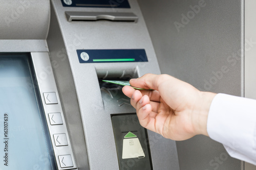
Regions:
M 113 115 L 119 168 L 152 169 L 146 130 L 140 126 L 136 114 Z

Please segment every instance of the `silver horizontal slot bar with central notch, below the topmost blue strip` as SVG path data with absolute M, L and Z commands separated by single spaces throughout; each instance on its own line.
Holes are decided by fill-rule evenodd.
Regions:
M 66 11 L 66 17 L 69 22 L 72 21 L 97 21 L 97 20 L 110 20 L 110 21 L 132 21 L 137 22 L 138 16 L 134 13 L 124 12 L 74 12 Z

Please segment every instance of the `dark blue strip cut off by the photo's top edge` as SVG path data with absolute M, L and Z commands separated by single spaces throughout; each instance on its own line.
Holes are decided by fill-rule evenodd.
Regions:
M 131 8 L 127 0 L 61 0 L 63 7 Z

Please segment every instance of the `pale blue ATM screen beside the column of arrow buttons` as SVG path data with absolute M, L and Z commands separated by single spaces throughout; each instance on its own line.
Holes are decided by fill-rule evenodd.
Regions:
M 0 54 L 0 169 L 56 169 L 30 54 Z

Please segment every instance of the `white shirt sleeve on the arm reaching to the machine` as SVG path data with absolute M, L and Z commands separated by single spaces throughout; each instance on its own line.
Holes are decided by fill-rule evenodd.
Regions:
M 207 132 L 231 157 L 256 165 L 256 100 L 217 94 L 209 109 Z

